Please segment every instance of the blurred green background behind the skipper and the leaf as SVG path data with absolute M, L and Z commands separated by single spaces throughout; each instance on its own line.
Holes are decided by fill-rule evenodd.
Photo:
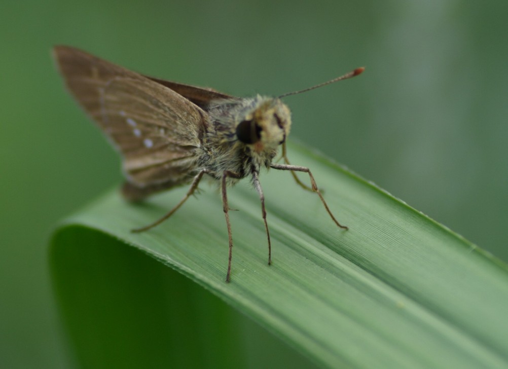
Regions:
M 507 21 L 501 0 L 3 2 L 0 367 L 69 365 L 48 238 L 121 181 L 118 157 L 63 90 L 52 45 L 239 96 L 366 66 L 285 99 L 291 137 L 506 261 Z

